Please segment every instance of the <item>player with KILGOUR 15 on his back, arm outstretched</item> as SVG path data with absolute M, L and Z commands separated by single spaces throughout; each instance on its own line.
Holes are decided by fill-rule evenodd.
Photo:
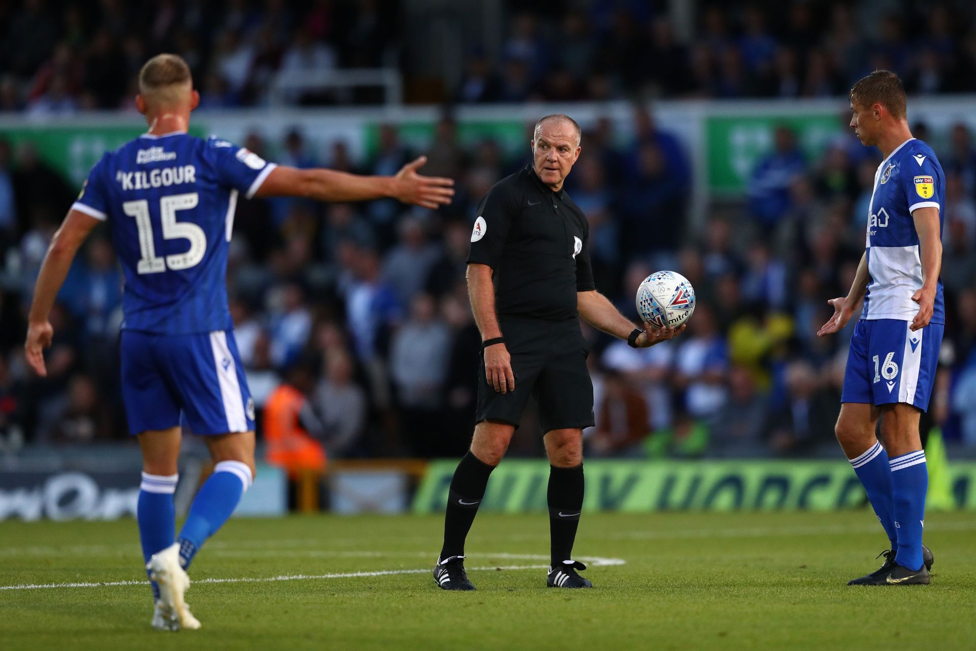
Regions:
M 108 223 L 125 272 L 122 394 L 142 447 L 137 519 L 155 597 L 152 624 L 197 629 L 183 600 L 185 569 L 224 524 L 254 479 L 254 401 L 227 306 L 227 247 L 238 198 L 305 196 L 321 201 L 392 197 L 427 208 L 450 203 L 453 181 L 417 174 L 424 157 L 394 177 L 299 170 L 265 162 L 218 139 L 187 135 L 200 101 L 185 61 L 159 55 L 139 76 L 147 133 L 102 156 L 51 241 L 34 291 L 26 358 L 46 374 L 48 315 L 88 234 Z M 205 436 L 215 467 L 174 541 L 181 416 Z

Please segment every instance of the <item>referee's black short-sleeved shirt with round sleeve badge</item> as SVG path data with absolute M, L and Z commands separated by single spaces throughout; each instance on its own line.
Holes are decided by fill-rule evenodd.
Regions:
M 499 316 L 571 319 L 579 316 L 576 293 L 595 289 L 589 240 L 583 211 L 530 164 L 481 200 L 468 264 L 494 269 Z

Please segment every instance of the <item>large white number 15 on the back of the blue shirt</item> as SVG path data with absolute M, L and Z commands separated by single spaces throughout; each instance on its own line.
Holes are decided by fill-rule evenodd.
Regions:
M 200 196 L 196 192 L 171 194 L 159 199 L 159 219 L 163 226 L 165 239 L 187 239 L 189 250 L 162 259 L 156 255 L 156 245 L 152 238 L 152 222 L 149 219 L 149 202 L 145 199 L 126 201 L 122 210 L 129 217 L 136 218 L 139 229 L 139 249 L 142 259 L 136 265 L 139 273 L 159 273 L 167 268 L 179 271 L 200 264 L 207 251 L 207 233 L 197 224 L 177 222 L 177 211 L 196 208 Z

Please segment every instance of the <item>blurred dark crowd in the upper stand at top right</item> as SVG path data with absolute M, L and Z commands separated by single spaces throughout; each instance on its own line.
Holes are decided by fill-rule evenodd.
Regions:
M 912 93 L 976 90 L 964 3 L 697 2 L 684 38 L 667 3 L 511 5 L 501 56 L 471 53 L 459 101 L 834 97 L 876 68 Z

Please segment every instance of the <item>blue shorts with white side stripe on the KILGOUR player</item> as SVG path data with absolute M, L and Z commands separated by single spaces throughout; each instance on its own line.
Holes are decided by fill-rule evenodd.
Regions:
M 181 423 L 194 434 L 254 429 L 254 400 L 233 331 L 158 335 L 123 330 L 121 361 L 131 433 Z

